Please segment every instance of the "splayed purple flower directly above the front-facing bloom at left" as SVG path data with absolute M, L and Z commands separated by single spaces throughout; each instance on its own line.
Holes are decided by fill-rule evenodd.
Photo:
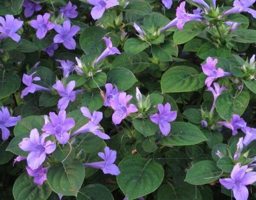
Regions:
M 60 80 L 58 80 L 56 82 L 56 84 L 54 84 L 52 86 L 52 88 L 54 88 L 55 90 L 58 91 L 58 94 L 62 97 L 59 101 L 58 101 L 58 109 L 60 110 L 65 110 L 68 106 L 68 103 L 71 101 L 75 101 L 76 100 L 76 94 L 79 94 L 81 92 L 83 92 L 83 90 L 76 90 L 73 91 L 73 89 L 76 86 L 76 81 L 72 80 L 67 84 L 67 87 L 64 88 L 63 84 L 61 83 Z

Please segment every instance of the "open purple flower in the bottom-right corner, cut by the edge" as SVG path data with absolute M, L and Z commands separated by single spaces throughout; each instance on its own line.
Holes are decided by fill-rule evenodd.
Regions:
M 247 200 L 249 192 L 247 185 L 251 185 L 256 181 L 256 172 L 246 172 L 247 165 L 239 167 L 236 164 L 231 172 L 231 178 L 220 178 L 219 181 L 222 186 L 227 189 L 232 189 L 236 200 Z

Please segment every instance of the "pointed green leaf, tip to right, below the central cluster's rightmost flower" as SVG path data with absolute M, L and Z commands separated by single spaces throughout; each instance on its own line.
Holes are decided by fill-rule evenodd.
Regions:
M 197 126 L 186 122 L 171 123 L 171 132 L 163 138 L 164 146 L 185 146 L 198 144 L 207 140 Z

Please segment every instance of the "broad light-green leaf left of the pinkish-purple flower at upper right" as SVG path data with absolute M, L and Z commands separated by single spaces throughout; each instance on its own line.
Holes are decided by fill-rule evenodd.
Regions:
M 196 91 L 204 87 L 198 78 L 198 71 L 192 67 L 175 66 L 168 69 L 161 78 L 162 92 Z

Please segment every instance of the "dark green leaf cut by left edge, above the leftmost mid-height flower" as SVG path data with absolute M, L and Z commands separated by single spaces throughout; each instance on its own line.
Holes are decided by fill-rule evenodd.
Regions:
M 0 72 L 0 99 L 14 93 L 20 87 L 20 77 L 13 72 Z

